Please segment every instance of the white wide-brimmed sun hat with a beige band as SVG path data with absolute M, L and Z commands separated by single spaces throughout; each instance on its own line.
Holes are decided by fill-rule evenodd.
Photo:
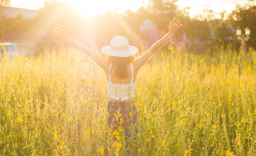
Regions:
M 127 38 L 123 36 L 115 36 L 112 38 L 110 46 L 101 48 L 104 54 L 117 57 L 129 57 L 138 52 L 138 48 L 128 45 Z

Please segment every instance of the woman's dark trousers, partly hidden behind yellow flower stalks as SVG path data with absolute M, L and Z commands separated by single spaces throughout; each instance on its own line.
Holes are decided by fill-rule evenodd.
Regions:
M 108 114 L 108 125 L 112 128 L 112 133 L 120 126 L 125 133 L 126 148 L 137 153 L 138 119 L 135 105 L 132 102 L 109 101 Z M 116 140 L 114 136 L 113 138 Z

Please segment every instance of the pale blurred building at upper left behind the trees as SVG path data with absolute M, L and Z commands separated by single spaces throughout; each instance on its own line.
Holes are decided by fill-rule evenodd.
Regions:
M 32 10 L 32 9 L 24 9 L 24 8 L 11 7 L 11 6 L 2 6 L 2 8 L 3 8 L 3 16 L 16 17 L 22 14 L 23 18 L 30 18 L 30 19 L 34 18 L 38 12 L 43 11 L 42 9 Z

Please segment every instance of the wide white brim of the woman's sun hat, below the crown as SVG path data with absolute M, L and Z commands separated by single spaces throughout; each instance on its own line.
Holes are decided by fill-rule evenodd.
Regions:
M 136 46 L 128 45 L 127 50 L 113 50 L 111 49 L 111 46 L 104 46 L 101 48 L 101 51 L 109 56 L 129 57 L 135 55 L 138 52 L 138 48 Z

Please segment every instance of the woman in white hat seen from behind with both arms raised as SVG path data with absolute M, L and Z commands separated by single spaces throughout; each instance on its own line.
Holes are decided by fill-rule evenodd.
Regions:
M 170 35 L 176 33 L 181 26 L 180 19 L 176 21 L 173 18 L 173 21 L 169 24 L 169 32 L 135 60 L 133 60 L 133 55 L 138 52 L 138 48 L 128 45 L 128 40 L 122 36 L 114 37 L 110 46 L 101 49 L 103 53 L 109 56 L 108 60 L 94 53 L 94 57 L 97 58 L 95 62 L 105 71 L 107 77 L 109 94 L 108 125 L 112 128 L 112 135 L 115 136 L 114 139 L 120 139 L 117 125 L 121 123 L 125 132 L 126 148 L 131 148 L 131 151 L 135 151 L 135 153 L 136 150 L 132 149 L 136 149 L 136 145 L 131 143 L 130 138 L 135 138 L 137 136 L 136 133 L 138 133 L 137 112 L 132 102 L 137 73 L 154 52 L 159 50 L 169 40 Z M 70 38 L 58 24 L 54 27 L 54 35 L 65 39 L 75 48 L 92 58 L 93 51 Z

